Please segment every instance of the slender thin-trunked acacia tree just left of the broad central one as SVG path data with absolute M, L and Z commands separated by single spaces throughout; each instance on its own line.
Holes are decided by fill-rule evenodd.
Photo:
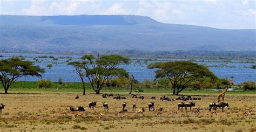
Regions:
M 72 65 L 75 67 L 76 69 L 76 72 L 77 74 L 79 75 L 81 81 L 82 81 L 82 85 L 83 85 L 83 95 L 85 95 L 85 82 L 84 82 L 84 77 L 86 75 L 86 72 L 85 72 L 85 65 L 86 63 L 83 61 L 83 62 L 78 62 L 78 61 L 75 61 L 75 62 L 70 62 L 68 65 Z

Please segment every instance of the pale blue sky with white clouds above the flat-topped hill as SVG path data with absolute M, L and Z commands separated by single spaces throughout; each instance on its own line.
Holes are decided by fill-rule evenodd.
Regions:
M 162 23 L 256 29 L 256 0 L 0 0 L 1 15 L 140 15 Z

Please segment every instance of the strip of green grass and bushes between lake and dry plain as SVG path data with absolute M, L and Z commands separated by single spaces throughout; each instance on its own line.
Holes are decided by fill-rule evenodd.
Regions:
M 89 83 L 85 84 L 86 93 L 95 93 L 91 88 Z M 136 94 L 136 87 L 133 88 L 133 94 Z M 159 94 L 172 94 L 170 88 L 139 88 L 142 89 L 143 93 L 159 93 Z M 82 93 L 82 83 L 81 82 L 65 82 L 63 85 L 59 85 L 58 82 L 52 82 L 52 88 L 38 88 L 37 82 L 33 81 L 17 81 L 13 84 L 9 93 L 16 92 L 81 92 Z M 3 93 L 3 88 L 0 88 L 0 93 Z M 104 87 L 100 93 L 129 93 L 129 88 L 127 87 Z M 184 89 L 180 94 L 217 94 L 219 91 L 212 91 L 211 89 L 203 90 L 193 90 L 193 89 Z M 256 91 L 227 91 L 227 94 L 256 94 Z

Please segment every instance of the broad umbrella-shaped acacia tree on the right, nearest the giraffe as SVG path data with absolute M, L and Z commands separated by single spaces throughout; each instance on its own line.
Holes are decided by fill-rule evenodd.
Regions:
M 207 67 L 190 61 L 156 62 L 148 65 L 148 68 L 158 68 L 156 78 L 169 79 L 176 95 L 187 87 L 200 85 L 207 78 L 218 79 Z

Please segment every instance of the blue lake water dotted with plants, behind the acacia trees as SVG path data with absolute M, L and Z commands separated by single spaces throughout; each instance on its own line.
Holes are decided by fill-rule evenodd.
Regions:
M 0 59 L 6 59 L 12 56 L 22 55 L 25 57 L 25 60 L 33 60 L 33 58 L 37 58 L 38 61 L 35 61 L 36 65 L 45 68 L 45 73 L 43 74 L 44 79 L 50 79 L 52 81 L 57 81 L 58 78 L 62 78 L 65 82 L 80 82 L 80 78 L 75 72 L 75 69 L 68 65 L 68 58 L 63 57 L 72 57 L 71 61 L 80 60 L 80 55 L 60 55 L 60 54 L 26 54 L 26 53 L 0 53 L 4 57 Z M 52 55 L 58 60 L 53 60 L 52 58 L 38 58 L 42 56 L 50 56 Z M 152 69 L 147 69 L 147 64 L 156 61 L 169 61 L 169 60 L 181 60 L 181 59 L 157 59 L 157 60 L 149 60 L 144 61 L 143 59 L 132 59 L 130 65 L 120 65 L 120 67 L 124 68 L 127 72 L 134 75 L 134 78 L 139 81 L 145 81 L 147 79 L 154 79 L 154 71 Z M 185 60 L 185 59 L 183 59 Z M 71 62 L 70 61 L 70 62 Z M 211 60 L 213 61 L 213 60 Z M 215 60 L 214 60 L 215 61 Z M 232 61 L 229 63 L 226 62 L 197 62 L 198 64 L 202 64 L 207 66 L 215 75 L 220 78 L 228 78 L 234 80 L 235 84 L 244 81 L 256 81 L 256 69 L 252 69 L 251 66 L 255 65 L 252 63 L 241 63 L 239 61 Z M 52 64 L 52 68 L 46 67 L 48 64 Z M 24 81 L 37 81 L 39 78 L 37 77 L 23 77 L 19 80 Z

